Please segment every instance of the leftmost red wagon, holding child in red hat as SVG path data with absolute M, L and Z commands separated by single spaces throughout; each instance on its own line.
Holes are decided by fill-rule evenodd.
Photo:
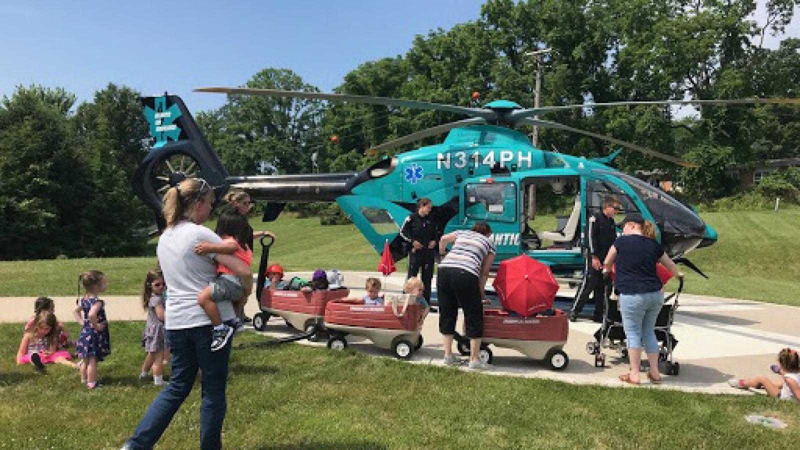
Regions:
M 350 289 L 333 291 L 282 291 L 266 287 L 262 291 L 258 307 L 261 312 L 254 315 L 253 327 L 264 331 L 271 315 L 282 317 L 286 324 L 313 335 L 322 327 L 326 305 L 335 300 L 345 299 Z

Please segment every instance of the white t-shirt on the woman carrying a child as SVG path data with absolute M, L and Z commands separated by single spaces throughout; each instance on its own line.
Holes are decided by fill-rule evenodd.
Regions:
M 158 239 L 158 264 L 166 281 L 165 327 L 167 330 L 210 325 L 211 321 L 198 305 L 198 294 L 217 276 L 214 254 L 197 255 L 194 245 L 206 241 L 222 243 L 214 231 L 191 222 L 169 227 Z M 230 302 L 217 303 L 222 320 L 234 318 Z

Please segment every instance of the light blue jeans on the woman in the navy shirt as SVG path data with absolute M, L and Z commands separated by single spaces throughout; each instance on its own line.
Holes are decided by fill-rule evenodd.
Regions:
M 663 304 L 662 291 L 619 295 L 622 327 L 625 328 L 628 348 L 642 348 L 644 341 L 646 353 L 658 353 L 655 321 Z

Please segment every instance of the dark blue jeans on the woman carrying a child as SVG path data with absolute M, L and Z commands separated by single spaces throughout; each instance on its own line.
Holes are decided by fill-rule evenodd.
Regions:
M 147 408 L 134 436 L 126 442 L 128 448 L 153 448 L 192 391 L 198 369 L 202 372 L 200 448 L 222 448 L 222 421 L 227 408 L 225 388 L 233 340 L 225 348 L 211 352 L 211 331 L 210 325 L 166 331 L 172 354 L 170 383 Z

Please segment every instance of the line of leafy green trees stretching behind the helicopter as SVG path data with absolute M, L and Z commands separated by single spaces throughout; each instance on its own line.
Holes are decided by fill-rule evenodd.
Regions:
M 543 48 L 542 105 L 667 98 L 798 97 L 800 39 L 762 46 L 780 33 L 800 0 L 770 0 L 766 22 L 750 19 L 752 0 L 490 0 L 480 17 L 418 35 L 406 54 L 365 62 L 335 91 L 472 106 L 510 99 L 533 106 L 534 61 Z M 244 86 L 317 91 L 292 70 L 269 68 Z M 191 108 L 191 105 L 189 105 Z M 554 120 L 612 135 L 682 159 L 681 169 L 635 151 L 622 171 L 659 168 L 690 199 L 734 195 L 732 165 L 800 157 L 796 106 L 702 106 L 676 116 L 670 107 L 586 108 Z M 266 161 L 281 173 L 352 171 L 379 156 L 370 147 L 462 117 L 293 98 L 229 97 L 195 111 L 231 174 L 252 175 Z M 615 148 L 562 131 L 540 131 L 544 150 L 609 155 Z M 390 152 L 440 142 L 430 138 Z M 138 92 L 113 83 L 75 105 L 61 88 L 19 87 L 0 103 L 0 259 L 58 255 L 136 255 L 146 246 L 150 213 L 130 189 L 148 151 Z M 312 161 L 312 154 L 316 154 Z M 788 180 L 788 181 L 787 181 Z M 767 183 L 800 189 L 800 177 Z M 795 183 L 795 184 L 792 184 Z

